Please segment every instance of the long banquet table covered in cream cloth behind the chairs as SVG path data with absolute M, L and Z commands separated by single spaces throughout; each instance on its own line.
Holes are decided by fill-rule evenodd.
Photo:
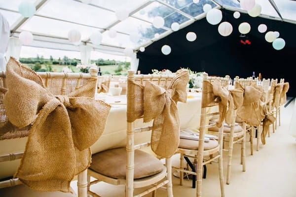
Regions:
M 120 101 L 120 102 L 118 102 Z M 107 119 L 106 128 L 91 147 L 92 153 L 124 147 L 126 144 L 126 96 L 106 96 L 106 102 L 111 103 L 111 111 Z M 201 111 L 201 93 L 188 93 L 187 103 L 178 102 L 181 129 L 199 128 Z M 135 128 L 152 125 L 143 123 L 143 119 L 135 122 Z M 143 143 L 150 139 L 150 132 L 137 133 L 135 143 Z M 0 155 L 19 153 L 25 149 L 27 137 L 0 141 Z M 13 176 L 20 160 L 0 163 L 0 179 Z

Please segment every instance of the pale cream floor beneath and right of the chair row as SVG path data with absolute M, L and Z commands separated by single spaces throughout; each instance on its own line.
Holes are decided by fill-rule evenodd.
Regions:
M 260 145 L 254 155 L 250 155 L 250 143 L 247 142 L 246 172 L 240 165 L 240 144 L 234 146 L 230 185 L 225 184 L 225 197 L 296 197 L 296 140 L 289 134 L 289 126 L 294 108 L 294 101 L 282 108 L 281 126 Z M 224 179 L 226 181 L 227 153 L 224 152 Z M 179 164 L 179 157 L 174 157 L 174 165 Z M 220 197 L 218 164 L 207 165 L 207 178 L 202 182 L 203 197 Z M 179 179 L 173 177 L 174 197 L 195 197 L 191 180 L 179 185 Z M 71 186 L 76 189 L 76 181 Z M 123 186 L 99 183 L 91 187 L 102 197 L 124 197 Z M 136 191 L 137 192 L 137 191 Z M 150 197 L 147 195 L 147 197 Z M 166 197 L 166 192 L 157 191 L 157 197 Z

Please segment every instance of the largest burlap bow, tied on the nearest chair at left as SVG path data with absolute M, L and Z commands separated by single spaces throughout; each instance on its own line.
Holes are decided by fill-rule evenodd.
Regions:
M 38 191 L 71 192 L 70 181 L 91 163 L 90 146 L 104 131 L 111 106 L 90 98 L 96 79 L 70 95 L 53 96 L 37 73 L 14 59 L 6 70 L 9 122 L 23 128 L 35 121 L 15 177 Z

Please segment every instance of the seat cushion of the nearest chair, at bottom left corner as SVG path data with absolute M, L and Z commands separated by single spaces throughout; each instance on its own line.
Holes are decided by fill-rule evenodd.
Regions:
M 72 190 L 73 192 L 73 190 Z M 64 192 L 38 192 L 25 185 L 17 185 L 0 189 L 1 197 L 76 197 L 75 193 Z

